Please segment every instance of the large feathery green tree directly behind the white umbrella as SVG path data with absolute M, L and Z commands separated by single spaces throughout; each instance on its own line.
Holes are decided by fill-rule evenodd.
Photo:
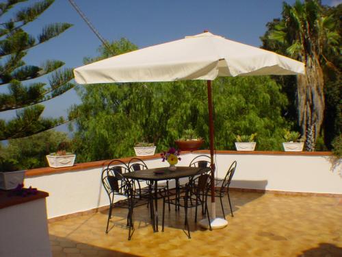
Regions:
M 126 39 L 112 42 L 115 53 L 136 47 Z M 103 48 L 101 57 L 107 57 Z M 86 59 L 88 62 L 89 59 Z M 280 149 L 287 98 L 265 77 L 227 77 L 213 82 L 216 149 L 234 149 L 236 134 L 257 132 L 259 149 Z M 72 112 L 80 162 L 133 155 L 145 140 L 162 151 L 192 127 L 209 147 L 207 84 L 203 81 L 96 84 L 77 86 L 81 105 Z

